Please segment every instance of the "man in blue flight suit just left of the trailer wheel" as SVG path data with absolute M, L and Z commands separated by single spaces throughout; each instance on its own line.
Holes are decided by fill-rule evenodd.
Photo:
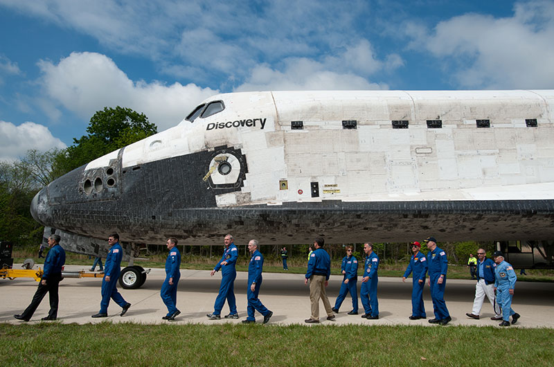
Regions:
M 123 249 L 119 244 L 119 235 L 112 233 L 108 237 L 108 244 L 111 246 L 106 256 L 104 263 L 104 278 L 102 278 L 102 301 L 100 301 L 100 311 L 98 314 L 93 314 L 92 317 L 107 317 L 109 299 L 113 299 L 115 303 L 121 306 L 123 310 L 119 316 L 123 316 L 131 304 L 123 299 L 121 294 L 117 292 L 117 281 L 121 272 L 121 259 L 123 259 Z

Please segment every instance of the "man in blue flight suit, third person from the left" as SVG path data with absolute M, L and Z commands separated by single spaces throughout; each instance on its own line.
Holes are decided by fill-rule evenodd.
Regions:
M 177 310 L 177 284 L 181 278 L 181 253 L 177 249 L 177 239 L 168 238 L 168 258 L 166 259 L 166 280 L 161 285 L 160 296 L 163 303 L 168 307 L 168 314 L 163 316 L 163 320 L 175 320 L 175 316 L 181 313 Z

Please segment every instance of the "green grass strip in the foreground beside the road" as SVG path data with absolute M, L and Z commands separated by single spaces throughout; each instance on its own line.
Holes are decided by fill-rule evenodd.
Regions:
M 6 366 L 552 366 L 554 330 L 0 323 Z M 468 359 L 468 355 L 478 359 Z

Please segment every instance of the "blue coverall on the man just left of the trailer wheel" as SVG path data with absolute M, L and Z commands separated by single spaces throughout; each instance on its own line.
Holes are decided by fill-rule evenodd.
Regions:
M 119 242 L 116 242 L 108 251 L 106 262 L 104 263 L 104 278 L 102 278 L 102 301 L 100 301 L 100 314 L 108 313 L 109 298 L 115 303 L 124 307 L 127 301 L 117 292 L 117 282 L 121 273 L 121 259 L 123 259 L 123 249 Z M 109 282 L 106 277 L 109 276 Z

